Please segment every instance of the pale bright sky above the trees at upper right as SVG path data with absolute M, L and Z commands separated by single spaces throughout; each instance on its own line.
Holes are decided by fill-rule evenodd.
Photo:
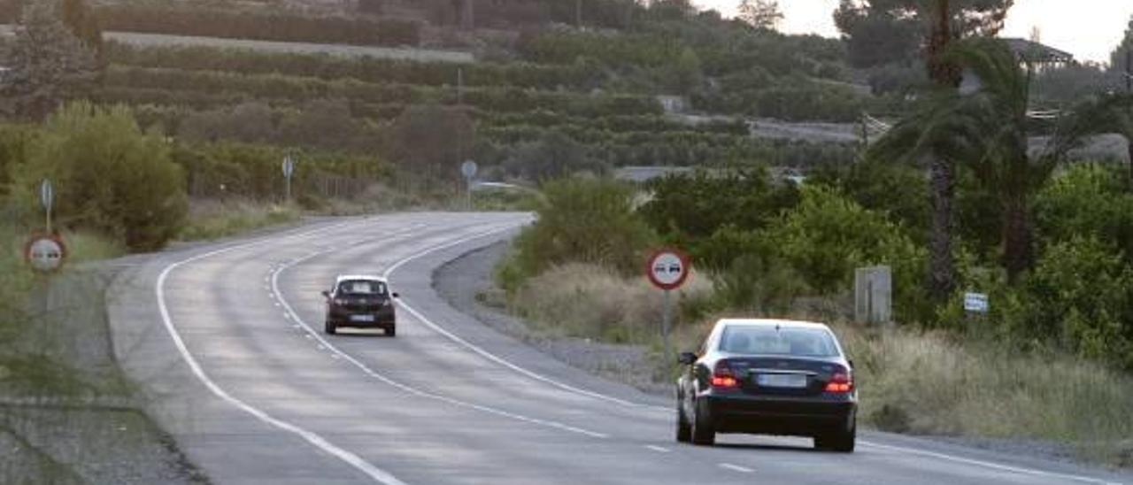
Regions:
M 695 0 L 725 16 L 740 0 Z M 778 0 L 785 18 L 780 29 L 792 34 L 837 36 L 832 14 L 838 0 Z M 1133 0 L 1015 0 L 1000 35 L 1030 39 L 1039 28 L 1042 43 L 1067 51 L 1080 61 L 1108 62 L 1109 52 L 1125 35 Z

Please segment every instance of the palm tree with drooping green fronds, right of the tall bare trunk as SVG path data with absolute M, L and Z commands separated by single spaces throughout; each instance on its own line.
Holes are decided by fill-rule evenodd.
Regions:
M 979 79 L 972 93 L 947 90 L 928 96 L 870 148 L 869 156 L 920 156 L 965 167 L 1003 210 L 1003 265 L 1014 280 L 1033 262 L 1030 198 L 1055 168 L 1091 134 L 1117 122 L 1127 100 L 1104 95 L 1084 101 L 1051 121 L 1041 150 L 1029 146 L 1036 124 L 1028 117 L 1031 69 L 1002 41 L 961 41 L 945 54 Z

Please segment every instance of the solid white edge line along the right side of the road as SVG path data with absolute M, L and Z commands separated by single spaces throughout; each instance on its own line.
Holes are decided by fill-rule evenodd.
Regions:
M 500 231 L 500 232 L 502 232 L 502 231 Z M 420 252 L 418 254 L 415 254 L 412 256 L 409 256 L 409 257 L 407 257 L 404 259 L 399 261 L 393 266 L 390 266 L 390 269 L 387 269 L 385 271 L 385 273 L 383 274 L 383 276 L 386 278 L 387 280 L 390 280 L 390 276 L 393 274 L 394 271 L 397 271 L 399 267 L 403 266 L 404 264 L 409 263 L 410 261 L 417 259 L 419 257 L 424 257 L 424 256 L 426 256 L 428 254 L 432 254 L 432 253 L 435 253 L 435 252 L 438 252 L 438 250 L 448 249 L 448 248 L 450 248 L 452 246 L 455 246 L 457 244 L 462 244 L 462 242 L 466 242 L 466 241 L 455 241 L 455 242 L 450 242 L 450 244 L 441 245 L 441 246 L 437 246 L 437 247 L 433 247 L 433 248 L 423 250 L 423 252 Z M 392 280 L 390 280 L 390 281 L 392 282 Z M 508 368 L 510 368 L 512 371 L 516 371 L 516 372 L 518 372 L 518 373 L 520 373 L 522 375 L 526 375 L 528 377 L 535 378 L 537 381 L 545 382 L 547 384 L 551 384 L 551 385 L 554 385 L 556 388 L 560 388 L 560 389 L 573 392 L 576 394 L 587 395 L 587 397 L 590 397 L 590 398 L 596 398 L 596 399 L 600 399 L 600 400 L 605 400 L 605 401 L 610 401 L 610 402 L 616 402 L 616 403 L 624 405 L 624 406 L 645 408 L 645 409 L 649 409 L 649 410 L 664 411 L 664 412 L 670 412 L 671 411 L 671 409 L 665 408 L 665 407 L 650 406 L 650 405 L 638 403 L 638 402 L 631 402 L 631 401 L 617 399 L 617 398 L 614 398 L 614 397 L 605 395 L 605 394 L 602 394 L 602 393 L 598 393 L 598 392 L 578 389 L 578 388 L 574 388 L 574 386 L 572 386 L 570 384 L 564 384 L 564 383 L 557 382 L 557 381 L 552 380 L 550 377 L 546 377 L 546 376 L 544 376 L 542 374 L 538 374 L 538 373 L 531 372 L 529 369 L 526 369 L 523 367 L 520 367 L 518 365 L 514 365 L 514 364 L 508 361 L 506 359 L 503 359 L 503 358 L 501 358 L 501 357 L 499 357 L 499 356 L 496 356 L 494 354 L 491 354 L 491 352 L 482 349 L 480 347 L 477 347 L 476 344 L 472 344 L 472 343 L 468 342 L 465 339 L 461 339 L 460 337 L 457 337 L 452 332 L 449 332 L 448 330 L 441 327 L 440 325 L 437 325 L 437 324 L 433 323 L 432 321 L 429 321 L 428 318 L 426 318 L 424 315 L 420 314 L 420 312 L 417 312 L 417 309 L 415 309 L 414 307 L 409 306 L 403 300 L 399 300 L 398 301 L 398 306 L 400 306 L 400 307 L 404 308 L 406 310 L 408 310 L 409 313 L 414 314 L 414 316 L 416 316 L 418 320 L 420 320 L 423 323 L 425 323 L 428 327 L 433 329 L 437 333 L 440 333 L 440 334 L 449 338 L 450 340 L 452 340 L 452 341 L 454 341 L 454 342 L 457 342 L 457 343 L 459 343 L 459 344 L 461 344 L 461 346 L 463 346 L 463 347 L 472 350 L 476 354 L 479 354 L 480 356 L 483 356 L 483 357 L 485 357 L 485 358 L 487 358 L 487 359 L 489 359 L 492 361 L 495 361 L 495 363 L 497 363 L 500 365 L 503 365 L 504 367 L 508 367 Z M 1049 477 L 1056 477 L 1056 478 L 1072 479 L 1072 480 L 1082 482 L 1082 483 L 1093 483 L 1093 484 L 1111 485 L 1107 480 L 1097 479 L 1097 478 L 1090 478 L 1090 477 L 1083 477 L 1083 476 L 1064 475 L 1064 474 L 1056 474 L 1056 473 L 1036 470 L 1036 469 L 1030 469 L 1030 468 L 1012 467 L 1012 466 L 1008 466 L 1008 465 L 999 465 L 999 463 L 994 463 L 994 462 L 989 462 L 989 461 L 980 461 L 980 460 L 971 460 L 971 459 L 961 458 L 961 457 L 953 457 L 953 456 L 945 454 L 945 453 L 935 453 L 935 452 L 921 451 L 921 450 L 915 450 L 915 449 L 905 449 L 905 448 L 897 448 L 897 446 L 888 446 L 888 445 L 883 445 L 883 444 L 877 444 L 877 443 L 864 442 L 864 441 L 860 441 L 860 440 L 859 440 L 859 443 L 862 443 L 862 444 L 866 444 L 866 445 L 870 445 L 870 446 L 881 448 L 881 449 L 888 449 L 888 450 L 892 450 L 892 451 L 906 452 L 906 453 L 913 453 L 913 454 L 921 454 L 921 456 L 938 458 L 938 459 L 942 459 L 942 460 L 957 461 L 957 462 L 964 462 L 964 463 L 969 463 L 969 465 L 977 465 L 977 466 L 982 466 L 982 467 L 987 467 L 987 468 L 991 468 L 991 469 L 1015 471 L 1015 473 L 1024 474 L 1024 475 L 1049 476 Z

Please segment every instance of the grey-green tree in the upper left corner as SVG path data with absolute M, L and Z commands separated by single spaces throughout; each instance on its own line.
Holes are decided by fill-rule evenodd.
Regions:
M 87 92 L 97 77 L 95 56 L 56 15 L 48 1 L 24 8 L 0 79 L 5 114 L 43 119 L 59 103 Z

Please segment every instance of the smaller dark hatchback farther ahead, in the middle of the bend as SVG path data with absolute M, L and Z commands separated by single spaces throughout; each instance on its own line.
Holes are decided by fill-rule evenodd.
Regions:
M 335 334 L 339 327 L 382 329 L 389 337 L 397 335 L 397 312 L 386 281 L 377 276 L 347 275 L 334 281 L 334 288 L 323 291 L 326 297 L 326 333 Z

